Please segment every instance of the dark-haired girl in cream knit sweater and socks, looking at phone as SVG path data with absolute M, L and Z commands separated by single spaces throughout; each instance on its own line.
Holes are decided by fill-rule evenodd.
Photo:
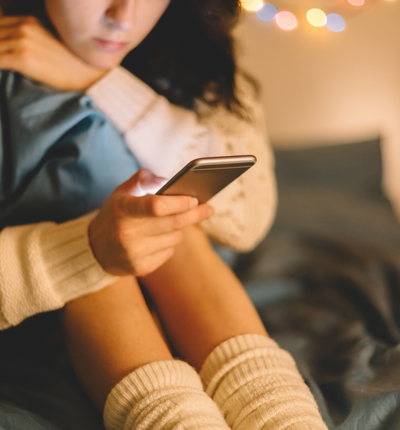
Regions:
M 71 361 L 107 429 L 325 428 L 206 237 L 248 250 L 275 206 L 255 90 L 235 75 L 238 7 L 3 4 L 0 327 L 63 307 Z M 214 209 L 142 195 L 192 158 L 235 153 L 258 165 Z M 139 167 L 160 176 L 128 179 Z

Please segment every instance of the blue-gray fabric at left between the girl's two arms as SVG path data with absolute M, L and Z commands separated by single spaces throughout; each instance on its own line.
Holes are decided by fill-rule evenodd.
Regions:
M 90 97 L 15 72 L 0 72 L 0 126 L 0 228 L 86 214 L 140 168 Z

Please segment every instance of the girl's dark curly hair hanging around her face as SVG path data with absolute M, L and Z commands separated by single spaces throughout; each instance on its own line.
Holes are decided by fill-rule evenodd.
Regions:
M 34 15 L 47 26 L 44 0 L 0 0 L 6 15 Z M 195 99 L 239 112 L 231 31 L 239 0 L 171 0 L 146 39 L 122 65 L 171 103 Z

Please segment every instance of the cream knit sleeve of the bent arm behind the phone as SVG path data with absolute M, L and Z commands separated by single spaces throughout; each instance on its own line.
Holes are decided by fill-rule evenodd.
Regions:
M 121 67 L 88 95 L 124 134 L 141 166 L 157 175 L 170 178 L 194 158 L 255 155 L 256 165 L 210 200 L 215 215 L 202 225 L 219 244 L 248 251 L 270 228 L 277 197 L 260 101 L 244 78 L 237 78 L 237 87 L 246 118 L 200 102 L 195 111 L 175 106 Z

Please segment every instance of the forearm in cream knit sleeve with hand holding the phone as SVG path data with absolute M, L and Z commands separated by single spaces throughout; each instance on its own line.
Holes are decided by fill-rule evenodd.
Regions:
M 211 215 L 189 197 L 143 196 L 141 170 L 100 211 L 63 224 L 5 228 L 0 234 L 0 330 L 101 290 L 113 275 L 145 275 L 171 257 L 180 230 Z

